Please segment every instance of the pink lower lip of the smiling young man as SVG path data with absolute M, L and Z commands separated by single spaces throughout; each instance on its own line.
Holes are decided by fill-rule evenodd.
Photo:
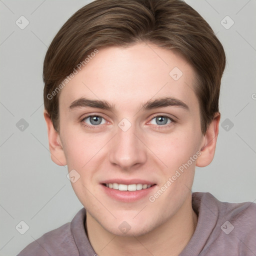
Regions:
M 155 185 L 152 185 L 145 189 L 135 190 L 135 191 L 120 191 L 117 189 L 109 188 L 103 184 L 101 184 L 102 188 L 104 189 L 104 192 L 112 197 L 115 200 L 122 201 L 122 202 L 134 202 L 137 201 L 146 195 L 148 193 L 152 192 L 152 189 L 154 189 Z

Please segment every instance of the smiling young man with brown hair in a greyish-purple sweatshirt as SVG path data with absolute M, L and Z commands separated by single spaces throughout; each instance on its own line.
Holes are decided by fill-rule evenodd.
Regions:
M 84 206 L 18 255 L 255 255 L 254 203 L 191 193 L 213 159 L 225 66 L 180 0 L 96 0 L 43 66 L 51 159 Z

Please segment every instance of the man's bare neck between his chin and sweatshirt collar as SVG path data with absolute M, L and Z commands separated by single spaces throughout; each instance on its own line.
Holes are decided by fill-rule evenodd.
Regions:
M 85 229 L 89 241 L 100 256 L 161 255 L 177 256 L 193 235 L 197 215 L 191 195 L 170 219 L 140 236 L 118 236 L 105 230 L 88 212 Z

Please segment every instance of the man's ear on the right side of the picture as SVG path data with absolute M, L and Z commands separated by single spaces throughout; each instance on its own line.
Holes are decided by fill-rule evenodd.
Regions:
M 196 159 L 196 166 L 204 167 L 210 164 L 213 159 L 217 136 L 218 136 L 218 124 L 220 120 L 220 113 L 216 112 L 211 123 L 208 125 L 208 128 L 203 135 L 201 143 L 201 155 Z

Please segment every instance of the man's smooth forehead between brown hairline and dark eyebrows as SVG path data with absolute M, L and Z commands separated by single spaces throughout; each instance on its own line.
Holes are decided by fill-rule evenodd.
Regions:
M 151 98 L 171 96 L 196 107 L 194 75 L 184 58 L 153 44 L 106 47 L 87 58 L 61 90 L 59 104 L 67 108 L 86 97 L 132 108 Z

